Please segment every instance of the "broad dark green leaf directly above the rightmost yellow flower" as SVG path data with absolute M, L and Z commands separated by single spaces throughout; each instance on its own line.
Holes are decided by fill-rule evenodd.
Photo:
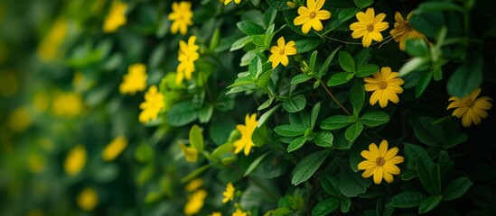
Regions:
M 482 56 L 469 55 L 449 78 L 448 94 L 462 98 L 482 84 Z

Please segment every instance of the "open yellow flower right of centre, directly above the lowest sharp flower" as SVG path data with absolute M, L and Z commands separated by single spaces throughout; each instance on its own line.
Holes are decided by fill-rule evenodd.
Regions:
M 380 72 L 376 72 L 372 76 L 365 77 L 365 91 L 374 92 L 370 96 L 370 104 L 373 105 L 379 101 L 380 107 L 384 108 L 388 105 L 388 100 L 392 103 L 398 103 L 398 94 L 403 93 L 403 85 L 405 81 L 398 76 L 397 72 L 391 72 L 391 67 L 382 67 Z

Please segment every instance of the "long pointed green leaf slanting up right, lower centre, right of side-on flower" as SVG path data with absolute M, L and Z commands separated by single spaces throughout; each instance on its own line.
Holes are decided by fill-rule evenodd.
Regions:
M 323 150 L 304 157 L 293 170 L 294 175 L 291 178 L 291 184 L 298 185 L 312 177 L 328 156 L 329 152 Z

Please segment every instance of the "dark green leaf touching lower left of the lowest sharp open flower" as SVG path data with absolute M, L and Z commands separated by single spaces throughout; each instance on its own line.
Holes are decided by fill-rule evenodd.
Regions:
M 370 180 L 351 171 L 349 166 L 341 166 L 339 190 L 344 196 L 355 197 L 365 193 L 370 184 Z

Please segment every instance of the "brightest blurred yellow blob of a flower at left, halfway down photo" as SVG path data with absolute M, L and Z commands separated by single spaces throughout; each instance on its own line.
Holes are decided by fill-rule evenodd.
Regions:
M 63 118 L 80 115 L 83 108 L 81 95 L 77 93 L 56 93 L 51 105 L 53 114 Z

